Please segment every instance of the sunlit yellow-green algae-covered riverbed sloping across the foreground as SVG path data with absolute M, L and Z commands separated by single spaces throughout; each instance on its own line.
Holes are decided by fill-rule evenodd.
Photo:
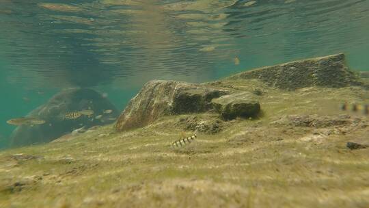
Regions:
M 368 103 L 365 87 L 205 85 L 256 92 L 262 112 L 161 116 L 2 151 L 0 207 L 369 207 L 369 117 L 340 109 Z M 172 146 L 195 129 L 194 142 Z

